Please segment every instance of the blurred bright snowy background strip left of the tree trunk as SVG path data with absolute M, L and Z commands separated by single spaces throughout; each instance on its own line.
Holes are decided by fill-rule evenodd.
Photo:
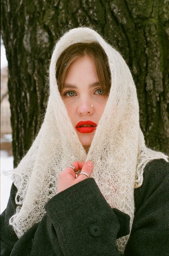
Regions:
M 12 155 L 12 129 L 10 125 L 10 104 L 8 100 L 8 62 L 6 59 L 5 47 L 1 38 L 1 129 L 0 129 L 0 212 L 6 208 L 12 180 L 5 172 L 13 169 L 14 157 Z

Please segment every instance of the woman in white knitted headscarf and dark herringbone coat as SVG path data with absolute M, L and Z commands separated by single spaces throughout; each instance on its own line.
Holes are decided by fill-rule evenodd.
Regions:
M 70 30 L 52 54 L 41 130 L 13 172 L 2 255 L 167 255 L 167 162 L 145 146 L 121 55 Z

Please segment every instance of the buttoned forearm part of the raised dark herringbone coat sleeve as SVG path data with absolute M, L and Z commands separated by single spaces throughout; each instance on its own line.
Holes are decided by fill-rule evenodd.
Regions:
M 62 191 L 45 206 L 64 255 L 119 255 L 116 238 L 129 233 L 129 216 L 112 209 L 93 178 Z

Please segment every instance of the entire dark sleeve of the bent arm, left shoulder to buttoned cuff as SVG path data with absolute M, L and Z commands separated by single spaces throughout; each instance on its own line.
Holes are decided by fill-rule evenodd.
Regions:
M 20 239 L 9 218 L 16 211 L 16 187 L 11 188 L 1 215 L 1 256 L 119 255 L 115 241 L 129 233 L 129 216 L 112 209 L 94 179 L 89 178 L 54 196 L 43 219 Z

